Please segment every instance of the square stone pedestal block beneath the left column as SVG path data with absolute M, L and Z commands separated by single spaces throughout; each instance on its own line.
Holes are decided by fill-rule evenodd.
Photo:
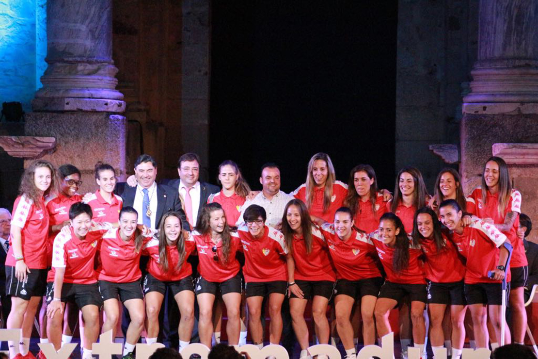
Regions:
M 116 169 L 118 180 L 125 179 L 127 121 L 105 112 L 30 112 L 25 115 L 26 136 L 56 138 L 56 151 L 43 159 L 54 166 L 72 164 L 82 173 L 79 193 L 95 192 L 94 167 L 103 161 Z M 25 160 L 28 166 L 32 160 Z

